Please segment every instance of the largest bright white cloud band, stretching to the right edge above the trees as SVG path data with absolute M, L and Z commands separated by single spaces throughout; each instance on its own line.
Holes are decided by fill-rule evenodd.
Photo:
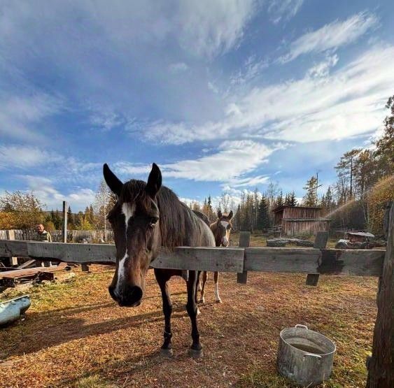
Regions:
M 394 46 L 372 48 L 330 74 L 336 62 L 332 55 L 299 80 L 229 96 L 222 120 L 200 125 L 155 122 L 146 127 L 145 136 L 173 144 L 239 136 L 309 143 L 376 131 L 393 93 Z

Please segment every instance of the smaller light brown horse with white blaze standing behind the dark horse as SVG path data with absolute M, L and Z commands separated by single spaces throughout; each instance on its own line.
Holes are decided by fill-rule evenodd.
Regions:
M 230 243 L 230 233 L 232 228 L 232 211 L 228 214 L 222 214 L 222 212 L 218 211 L 218 220 L 213 222 L 210 225 L 211 231 L 213 232 L 213 236 L 215 236 L 215 243 L 217 247 L 227 247 Z M 201 287 L 201 298 L 199 299 L 200 303 L 204 303 L 204 291 L 205 291 L 205 283 L 208 275 L 206 271 L 202 273 L 202 287 Z M 222 303 L 222 300 L 219 296 L 219 273 L 218 271 L 213 273 L 213 281 L 215 282 L 215 299 L 217 303 Z

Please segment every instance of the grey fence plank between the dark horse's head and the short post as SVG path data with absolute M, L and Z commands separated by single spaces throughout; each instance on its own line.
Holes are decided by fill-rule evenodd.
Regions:
M 190 271 L 242 272 L 244 250 L 228 247 L 176 247 L 174 252 L 160 252 L 150 266 Z

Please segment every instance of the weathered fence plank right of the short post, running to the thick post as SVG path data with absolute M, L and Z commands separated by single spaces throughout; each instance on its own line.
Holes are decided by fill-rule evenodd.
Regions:
M 244 271 L 379 276 L 383 250 L 246 248 Z

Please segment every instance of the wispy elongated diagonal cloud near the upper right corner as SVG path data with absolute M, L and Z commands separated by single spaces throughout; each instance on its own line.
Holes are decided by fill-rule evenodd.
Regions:
M 377 17 L 362 12 L 342 21 L 336 20 L 325 24 L 321 29 L 308 32 L 290 43 L 288 54 L 280 58 L 280 62 L 290 62 L 302 54 L 309 52 L 323 52 L 348 45 L 356 41 L 369 29 L 377 25 Z

